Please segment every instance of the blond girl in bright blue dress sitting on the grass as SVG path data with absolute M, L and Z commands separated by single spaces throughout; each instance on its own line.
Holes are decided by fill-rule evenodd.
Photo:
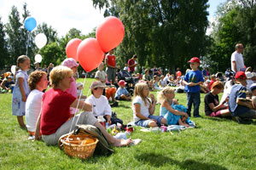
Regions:
M 189 127 L 186 123 L 189 115 L 186 112 L 173 109 L 174 105 L 178 105 L 177 100 L 174 99 L 174 91 L 174 88 L 166 87 L 157 94 L 157 100 L 161 104 L 160 116 L 166 118 L 168 125 L 176 125 L 178 123 L 179 125 Z

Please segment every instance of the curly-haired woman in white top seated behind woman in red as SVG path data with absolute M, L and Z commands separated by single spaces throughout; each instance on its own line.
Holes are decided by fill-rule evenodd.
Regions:
M 26 128 L 32 136 L 35 135 L 36 123 L 41 111 L 43 90 L 47 88 L 47 73 L 33 71 L 28 77 L 28 86 L 32 90 L 26 99 Z

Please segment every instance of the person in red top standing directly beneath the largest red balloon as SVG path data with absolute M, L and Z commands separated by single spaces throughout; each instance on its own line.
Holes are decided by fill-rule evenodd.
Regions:
M 115 82 L 115 56 L 113 55 L 113 49 L 111 49 L 105 57 L 105 64 L 107 65 L 106 72 L 108 75 L 108 82 Z

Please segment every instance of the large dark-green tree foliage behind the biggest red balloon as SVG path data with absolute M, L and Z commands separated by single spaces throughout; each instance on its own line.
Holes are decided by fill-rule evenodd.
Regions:
M 116 50 L 121 65 L 137 54 L 140 65 L 185 68 L 190 57 L 206 53 L 207 0 L 93 0 L 93 4 L 106 8 L 105 15 L 119 17 L 125 26 L 125 38 Z

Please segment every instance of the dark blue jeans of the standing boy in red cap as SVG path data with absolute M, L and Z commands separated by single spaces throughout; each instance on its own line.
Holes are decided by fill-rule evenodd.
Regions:
M 187 93 L 187 110 L 188 110 L 188 114 L 189 116 L 191 116 L 191 108 L 192 108 L 192 104 L 194 105 L 194 116 L 200 116 L 199 115 L 199 105 L 201 103 L 201 99 L 200 99 L 200 92 L 198 93 Z

